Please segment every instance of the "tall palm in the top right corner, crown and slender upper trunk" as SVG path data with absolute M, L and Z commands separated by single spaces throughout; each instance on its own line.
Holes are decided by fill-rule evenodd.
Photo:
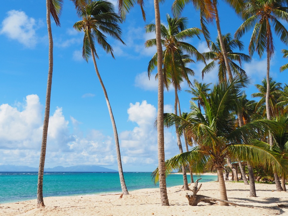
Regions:
M 270 59 L 274 54 L 274 42 L 272 27 L 280 41 L 288 44 L 288 31 L 279 20 L 288 21 L 288 2 L 275 0 L 251 0 L 247 1 L 243 7 L 243 17 L 245 21 L 235 32 L 235 37 L 241 38 L 247 31 L 253 28 L 252 37 L 248 47 L 250 56 L 254 51 L 258 53 L 260 58 L 263 52 L 267 52 L 267 73 L 266 73 L 266 115 L 267 119 L 271 119 L 270 113 Z M 271 134 L 269 135 L 270 145 L 273 145 Z

